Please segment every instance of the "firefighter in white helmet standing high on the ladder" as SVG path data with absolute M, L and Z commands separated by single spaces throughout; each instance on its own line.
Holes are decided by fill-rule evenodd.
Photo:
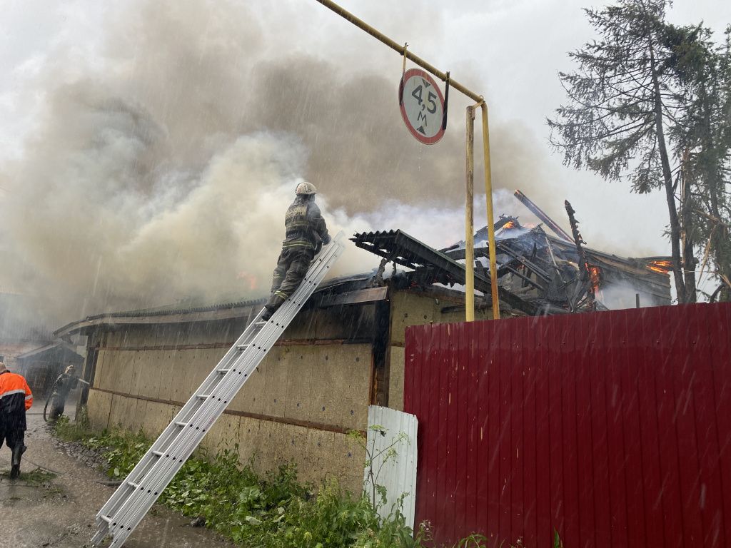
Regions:
M 325 219 L 315 204 L 317 189 L 312 183 L 299 183 L 295 201 L 284 216 L 287 236 L 274 269 L 272 293 L 263 320 L 271 318 L 282 303 L 295 292 L 307 274 L 310 263 L 323 245 L 330 243 Z

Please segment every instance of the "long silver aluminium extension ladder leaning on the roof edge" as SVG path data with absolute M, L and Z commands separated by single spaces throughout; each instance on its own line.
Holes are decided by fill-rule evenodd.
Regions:
M 96 535 L 91 544 L 98 546 L 107 536 L 113 537 L 109 548 L 120 548 L 124 544 L 175 473 L 200 444 L 205 433 L 297 316 L 322 278 L 325 278 L 343 251 L 342 237 L 343 232 L 340 232 L 314 258 L 298 289 L 269 321 L 262 321 L 262 309 L 246 327 L 173 422 L 167 425 L 147 454 L 96 514 Z

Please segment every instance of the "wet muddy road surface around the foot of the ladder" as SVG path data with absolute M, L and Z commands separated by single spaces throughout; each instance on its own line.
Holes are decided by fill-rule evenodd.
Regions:
M 75 444 L 60 444 L 43 422 L 42 404 L 27 415 L 20 479 L 10 480 L 10 450 L 0 449 L 0 548 L 91 547 L 96 511 L 114 492 L 97 470 L 98 457 Z M 68 409 L 71 412 L 72 409 Z M 108 540 L 104 545 L 108 544 Z M 126 548 L 231 548 L 220 536 L 154 506 Z

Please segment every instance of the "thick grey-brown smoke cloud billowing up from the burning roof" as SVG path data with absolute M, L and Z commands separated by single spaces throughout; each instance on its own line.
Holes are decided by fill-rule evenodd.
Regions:
M 35 129 L 0 166 L 2 283 L 54 324 L 260 296 L 300 178 L 333 232 L 463 237 L 464 99 L 452 94 L 447 136 L 423 147 L 396 77 L 290 53 L 299 39 L 273 49 L 280 23 L 234 2 L 139 1 L 110 16 L 94 62 L 51 56 L 29 90 L 45 98 Z M 529 189 L 541 170 L 520 133 L 496 128 L 493 142 L 496 186 Z M 377 262 L 349 251 L 339 271 Z

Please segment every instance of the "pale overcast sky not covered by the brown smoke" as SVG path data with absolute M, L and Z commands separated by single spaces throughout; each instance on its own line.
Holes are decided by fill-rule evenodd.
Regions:
M 354 74 L 362 70 L 376 72 L 393 79 L 397 87 L 401 73 L 398 55 L 316 1 L 243 3 L 250 4 L 262 20 L 270 56 L 303 52 L 346 67 Z M 114 9 L 124 4 L 117 2 Z M 455 80 L 485 95 L 493 126 L 515 129 L 534 155 L 529 160 L 515 161 L 532 161 L 539 166 L 539 172 L 545 173 L 540 181 L 544 191 L 534 197 L 554 214 L 560 210 L 556 205 L 568 198 L 583 221 L 583 236 L 590 246 L 634 256 L 669 254 L 662 237 L 667 224 L 662 194 L 629 194 L 623 183 L 605 183 L 591 173 L 575 172 L 562 166 L 561 157 L 548 147 L 545 118 L 564 101 L 557 72 L 572 69 L 567 51 L 593 37 L 582 8 L 603 4 L 580 0 L 405 0 L 398 2 L 395 10 L 393 1 L 341 0 L 346 9 L 396 42 L 409 42 L 412 52 L 451 71 Z M 64 78 L 73 80 L 69 65 L 73 66 L 75 59 L 80 60 L 80 66 L 93 66 L 97 58 L 102 64 L 105 34 L 115 18 L 114 9 L 105 2 L 91 0 L 0 0 L 0 170 L 3 163 L 22 155 L 23 142 L 34 134 L 45 98 L 42 82 L 47 73 L 63 63 Z M 669 18 L 674 23 L 702 20 L 716 31 L 720 42 L 724 27 L 731 22 L 731 2 L 676 1 Z M 205 33 L 203 21 L 201 27 Z M 469 104 L 455 92 L 450 99 L 452 114 L 463 113 Z M 394 115 L 398 116 L 398 110 Z M 451 123 L 448 131 L 462 134 L 463 114 L 457 120 L 459 123 Z M 428 148 L 420 151 L 428 153 Z M 520 188 L 526 186 L 526 181 L 496 180 L 496 186 Z M 461 189 L 455 189 L 459 192 Z M 0 197 L 2 194 L 0 191 Z M 530 220 L 529 213 L 517 202 L 508 203 L 506 208 L 512 210 L 496 213 L 516 213 Z M 478 224 L 484 222 L 483 210 L 478 202 Z M 565 226 L 563 218 L 557 220 Z M 451 227 L 455 239 L 462 237 L 460 224 L 456 211 Z

